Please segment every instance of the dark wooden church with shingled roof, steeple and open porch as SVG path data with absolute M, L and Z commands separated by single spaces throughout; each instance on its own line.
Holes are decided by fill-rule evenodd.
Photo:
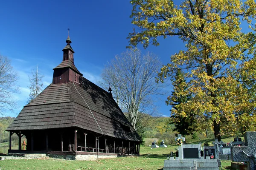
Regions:
M 52 83 L 29 102 L 12 124 L 9 153 L 119 156 L 140 154 L 140 136 L 111 94 L 82 77 L 68 36 Z M 12 150 L 17 134 L 19 149 Z M 21 137 L 26 136 L 26 150 Z

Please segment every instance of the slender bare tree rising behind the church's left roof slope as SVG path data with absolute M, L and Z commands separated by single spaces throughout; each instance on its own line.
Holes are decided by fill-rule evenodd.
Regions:
M 30 86 L 29 86 L 29 99 L 28 102 L 30 102 L 32 99 L 35 99 L 36 96 L 38 96 L 38 94 L 41 93 L 42 91 L 42 87 L 43 87 L 43 82 L 42 82 L 42 78 L 44 77 L 44 75 L 41 75 L 38 72 L 38 66 L 36 67 L 36 71 L 32 71 L 32 76 L 29 77 L 29 82 L 30 82 Z

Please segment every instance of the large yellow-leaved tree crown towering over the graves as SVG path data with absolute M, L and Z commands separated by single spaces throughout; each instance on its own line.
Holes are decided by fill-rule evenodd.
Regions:
M 175 1 L 177 2 L 177 1 Z M 189 102 L 175 114 L 193 111 L 198 127 L 212 128 L 221 140 L 236 122 L 256 122 L 254 0 L 131 0 L 131 18 L 137 26 L 129 34 L 131 46 L 159 45 L 158 37 L 178 36 L 186 50 L 173 54 L 159 73 L 160 81 L 186 71 Z M 243 29 L 242 29 L 243 26 Z M 251 31 L 244 31 L 245 28 Z M 255 64 L 255 63 L 254 63 Z M 247 71 L 247 72 L 246 72 Z M 250 74 L 247 74 L 250 73 Z M 255 129 L 251 126 L 250 129 Z

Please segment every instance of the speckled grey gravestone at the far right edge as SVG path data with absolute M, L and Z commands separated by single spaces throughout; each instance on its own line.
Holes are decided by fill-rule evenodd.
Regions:
M 245 146 L 231 147 L 231 159 L 247 162 L 248 170 L 256 170 L 256 132 L 245 132 L 244 142 Z

